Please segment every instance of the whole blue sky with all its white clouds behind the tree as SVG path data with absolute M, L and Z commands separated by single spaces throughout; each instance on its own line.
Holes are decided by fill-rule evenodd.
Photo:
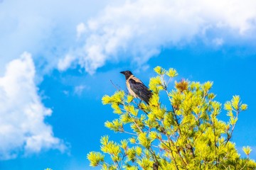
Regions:
M 256 2 L 0 1 L 0 169 L 90 169 L 86 154 L 116 118 L 101 98 L 123 70 L 149 83 L 154 67 L 240 95 L 233 142 L 256 159 Z M 220 118 L 227 120 L 225 111 Z

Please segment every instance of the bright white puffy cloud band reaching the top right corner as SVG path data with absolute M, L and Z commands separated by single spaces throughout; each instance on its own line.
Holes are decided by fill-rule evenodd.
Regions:
M 253 0 L 127 0 L 80 23 L 80 41 L 70 53 L 90 74 L 106 62 L 131 60 L 140 67 L 162 47 L 186 45 L 196 37 L 213 45 L 228 43 L 228 36 L 250 37 L 255 8 Z

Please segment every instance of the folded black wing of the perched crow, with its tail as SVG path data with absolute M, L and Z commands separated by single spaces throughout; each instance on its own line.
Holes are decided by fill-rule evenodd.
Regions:
M 134 79 L 129 79 L 129 85 L 139 98 L 142 99 L 142 101 L 145 101 L 147 104 L 149 104 L 149 98 L 152 95 L 152 92 L 141 82 L 137 82 Z

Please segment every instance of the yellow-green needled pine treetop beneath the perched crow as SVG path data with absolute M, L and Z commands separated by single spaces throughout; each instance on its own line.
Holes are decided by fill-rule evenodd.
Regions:
M 118 119 L 105 126 L 114 132 L 130 135 L 117 143 L 108 136 L 101 139 L 101 152 L 90 152 L 90 166 L 102 169 L 256 169 L 250 159 L 250 147 L 243 147 L 247 157 L 241 158 L 230 142 L 240 112 L 247 109 L 240 96 L 224 104 L 229 121 L 218 120 L 221 104 L 210 92 L 213 82 L 204 84 L 187 80 L 174 81 L 176 69 L 154 69 L 157 76 L 149 81 L 153 95 L 149 106 L 137 103 L 124 91 L 104 96 Z M 170 82 L 174 88 L 168 89 Z M 166 94 L 169 105 L 159 96 Z M 124 126 L 125 125 L 125 126 Z M 105 161 L 105 156 L 110 156 Z

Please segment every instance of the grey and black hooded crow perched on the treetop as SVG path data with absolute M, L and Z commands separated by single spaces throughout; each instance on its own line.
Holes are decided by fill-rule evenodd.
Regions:
M 149 98 L 151 98 L 152 92 L 142 83 L 141 80 L 134 77 L 132 72 L 127 70 L 120 73 L 125 76 L 129 94 L 134 96 L 134 98 L 142 99 L 142 101 L 149 105 Z

